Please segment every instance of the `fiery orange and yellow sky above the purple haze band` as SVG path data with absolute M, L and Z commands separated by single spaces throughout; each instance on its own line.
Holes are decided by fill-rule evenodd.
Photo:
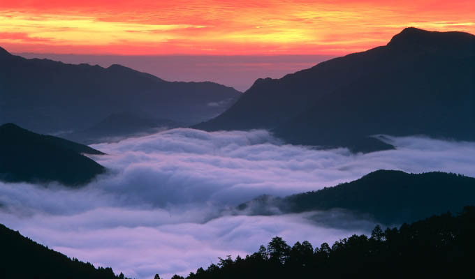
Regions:
M 475 33 L 475 1 L 0 0 L 10 52 L 338 55 L 411 26 Z

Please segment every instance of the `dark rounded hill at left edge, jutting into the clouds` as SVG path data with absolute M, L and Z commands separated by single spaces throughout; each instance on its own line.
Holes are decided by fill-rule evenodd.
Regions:
M 38 135 L 12 123 L 0 126 L 0 180 L 80 186 L 105 172 L 82 155 L 103 154 L 82 144 L 50 135 Z

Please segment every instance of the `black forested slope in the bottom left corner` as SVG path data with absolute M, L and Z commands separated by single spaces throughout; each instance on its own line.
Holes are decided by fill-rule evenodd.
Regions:
M 110 267 L 70 259 L 0 224 L 0 278 L 116 279 Z

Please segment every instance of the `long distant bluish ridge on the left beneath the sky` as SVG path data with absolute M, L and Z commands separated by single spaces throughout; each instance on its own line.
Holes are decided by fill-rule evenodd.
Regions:
M 167 82 L 119 65 L 24 59 L 0 50 L 0 124 L 39 133 L 84 130 L 122 112 L 190 125 L 224 112 L 240 95 L 212 82 Z

